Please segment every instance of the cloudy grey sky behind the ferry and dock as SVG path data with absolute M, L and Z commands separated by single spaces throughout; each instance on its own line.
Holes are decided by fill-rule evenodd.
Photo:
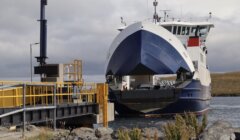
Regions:
M 204 19 L 211 11 L 211 71 L 240 70 L 239 0 L 158 0 L 161 9 L 182 19 Z M 0 78 L 29 75 L 29 44 L 39 42 L 40 0 L 0 1 Z M 84 61 L 84 74 L 104 74 L 108 48 L 120 17 L 128 24 L 152 17 L 152 0 L 48 0 L 48 63 Z M 34 46 L 33 55 L 39 55 Z M 34 61 L 36 61 L 34 59 Z M 37 65 L 37 63 L 34 63 Z

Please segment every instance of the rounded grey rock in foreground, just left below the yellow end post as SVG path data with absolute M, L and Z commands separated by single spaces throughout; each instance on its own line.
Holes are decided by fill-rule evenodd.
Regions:
M 98 139 L 95 136 L 95 131 L 87 127 L 76 128 L 71 132 L 71 135 L 78 136 L 78 138 L 81 140 L 97 140 Z

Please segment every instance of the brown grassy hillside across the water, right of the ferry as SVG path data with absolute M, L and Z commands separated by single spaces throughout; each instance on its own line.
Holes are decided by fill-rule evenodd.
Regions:
M 213 73 L 212 96 L 240 96 L 240 72 Z

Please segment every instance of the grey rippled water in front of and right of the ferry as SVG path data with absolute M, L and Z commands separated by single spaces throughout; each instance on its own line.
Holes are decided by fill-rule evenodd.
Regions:
M 240 127 L 240 97 L 213 97 L 211 100 L 210 111 L 208 113 L 208 125 L 217 120 L 228 121 L 233 127 Z M 162 118 L 115 118 L 109 126 L 117 129 L 121 126 L 127 128 L 156 127 L 169 122 L 169 119 Z

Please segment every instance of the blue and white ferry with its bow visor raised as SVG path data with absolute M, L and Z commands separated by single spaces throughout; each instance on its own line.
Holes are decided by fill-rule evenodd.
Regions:
M 211 100 L 206 38 L 214 24 L 168 19 L 166 11 L 161 21 L 153 5 L 152 21 L 119 28 L 111 44 L 109 100 L 124 116 L 203 114 Z

